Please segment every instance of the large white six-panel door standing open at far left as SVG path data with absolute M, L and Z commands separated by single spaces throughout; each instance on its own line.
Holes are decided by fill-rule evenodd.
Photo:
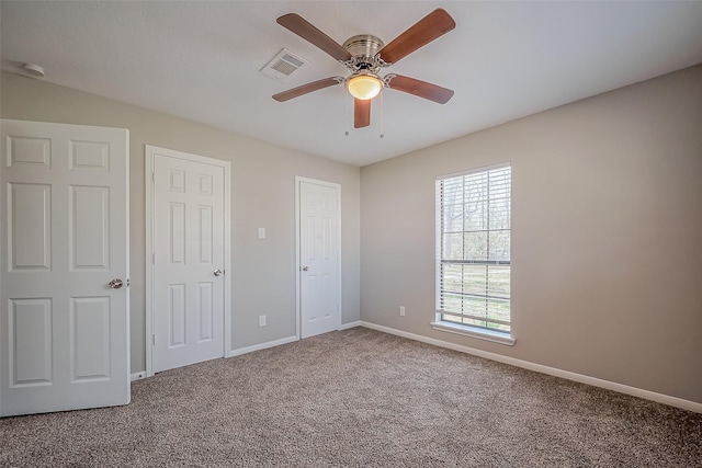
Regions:
M 1 133 L 0 415 L 126 404 L 128 133 Z

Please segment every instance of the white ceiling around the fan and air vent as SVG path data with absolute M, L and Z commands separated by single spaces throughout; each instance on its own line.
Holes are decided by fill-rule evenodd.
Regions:
M 456 28 L 384 71 L 453 89 L 448 104 L 385 90 L 353 129 L 342 85 L 271 99 L 346 75 L 278 16 L 388 43 L 439 7 Z M 354 165 L 702 62 L 702 1 L 2 0 L 0 14 L 5 70 L 38 64 L 53 83 Z M 309 64 L 279 82 L 259 70 L 283 47 Z

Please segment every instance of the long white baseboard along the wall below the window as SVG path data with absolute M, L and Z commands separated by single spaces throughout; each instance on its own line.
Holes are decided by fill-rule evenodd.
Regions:
M 695 413 L 702 413 L 702 403 L 698 403 L 695 401 L 689 401 L 689 400 L 683 400 L 682 398 L 670 397 L 668 395 L 663 395 L 663 393 L 656 393 L 655 391 L 643 390 L 641 388 L 630 387 L 627 385 L 618 384 L 614 381 L 602 380 L 596 377 L 571 373 L 569 370 L 562 370 L 555 367 L 548 367 L 541 364 L 530 363 L 529 361 L 522 361 L 522 359 L 517 359 L 514 357 L 502 356 L 501 354 L 476 350 L 474 347 L 450 343 L 448 341 L 437 340 L 433 338 L 422 336 L 420 334 L 409 333 L 406 331 L 397 330 L 389 327 L 383 327 L 375 323 L 365 322 L 362 320 L 359 322 L 359 324 L 361 327 L 382 331 L 384 333 L 395 334 L 398 336 L 407 338 L 409 340 L 433 344 L 434 346 L 446 347 L 449 350 L 460 351 L 462 353 L 472 354 L 474 356 L 485 357 L 486 359 L 497 361 L 497 362 L 509 364 L 516 367 L 521 367 L 529 370 L 535 370 L 537 373 L 552 375 L 554 377 L 565 378 L 565 379 L 577 381 L 580 384 L 591 385 L 593 387 L 600 387 L 608 390 L 618 391 L 620 393 L 631 395 L 633 397 L 656 401 L 658 403 L 668 404 L 670 407 L 681 408 L 683 410 L 693 411 Z

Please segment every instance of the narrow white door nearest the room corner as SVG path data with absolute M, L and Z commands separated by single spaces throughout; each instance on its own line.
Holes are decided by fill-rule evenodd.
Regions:
M 341 327 L 340 186 L 297 178 L 302 338 Z

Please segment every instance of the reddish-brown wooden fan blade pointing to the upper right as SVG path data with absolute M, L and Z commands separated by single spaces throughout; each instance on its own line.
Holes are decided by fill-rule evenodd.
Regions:
M 383 47 L 380 56 L 386 64 L 396 64 L 400 58 L 443 36 L 454 27 L 456 22 L 453 18 L 445 10 L 438 8 Z

